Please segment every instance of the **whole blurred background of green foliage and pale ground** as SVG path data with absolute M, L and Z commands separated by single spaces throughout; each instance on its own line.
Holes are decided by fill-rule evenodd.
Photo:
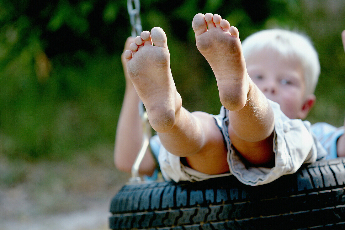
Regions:
M 221 106 L 191 28 L 196 13 L 212 12 L 236 26 L 241 40 L 277 27 L 308 35 L 321 75 L 307 120 L 343 125 L 344 0 L 140 2 L 143 29 L 160 26 L 167 34 L 172 75 L 189 111 L 218 114 Z M 0 0 L 0 229 L 54 229 L 57 222 L 107 229 L 110 199 L 128 178 L 112 154 L 125 88 L 120 55 L 130 31 L 126 0 Z M 76 223 L 70 213 L 88 221 Z

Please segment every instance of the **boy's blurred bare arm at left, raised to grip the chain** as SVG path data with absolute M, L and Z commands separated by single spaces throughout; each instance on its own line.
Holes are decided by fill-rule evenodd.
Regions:
M 129 49 L 129 44 L 134 42 L 133 37 L 129 37 L 125 43 L 125 49 Z M 142 124 L 138 111 L 139 97 L 127 73 L 127 60 L 121 55 L 121 62 L 124 67 L 126 79 L 126 89 L 124 101 L 117 123 L 116 140 L 114 150 L 114 160 L 116 167 L 125 172 L 130 172 L 131 167 L 141 147 Z M 140 164 L 139 173 L 152 175 L 155 169 L 155 160 L 147 151 L 144 160 Z

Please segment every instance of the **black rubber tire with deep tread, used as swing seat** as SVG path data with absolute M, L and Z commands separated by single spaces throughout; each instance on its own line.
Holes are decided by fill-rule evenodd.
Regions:
M 126 185 L 112 199 L 111 229 L 345 229 L 345 158 L 303 165 L 272 183 L 234 176 Z

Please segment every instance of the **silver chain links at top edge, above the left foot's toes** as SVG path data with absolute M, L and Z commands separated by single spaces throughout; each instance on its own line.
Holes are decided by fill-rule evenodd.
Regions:
M 132 37 L 139 36 L 142 32 L 141 20 L 140 20 L 140 1 L 139 0 L 127 0 L 127 9 L 132 26 Z

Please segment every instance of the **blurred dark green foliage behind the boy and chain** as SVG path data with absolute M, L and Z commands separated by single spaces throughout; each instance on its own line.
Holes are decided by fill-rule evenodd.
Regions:
M 125 87 L 120 54 L 131 30 L 126 6 L 125 0 L 0 1 L 0 154 L 61 160 L 114 143 Z M 217 85 L 191 29 L 199 12 L 220 14 L 242 40 L 274 27 L 309 35 L 322 73 L 307 119 L 343 124 L 343 0 L 141 0 L 143 29 L 167 33 L 183 105 L 216 114 Z

